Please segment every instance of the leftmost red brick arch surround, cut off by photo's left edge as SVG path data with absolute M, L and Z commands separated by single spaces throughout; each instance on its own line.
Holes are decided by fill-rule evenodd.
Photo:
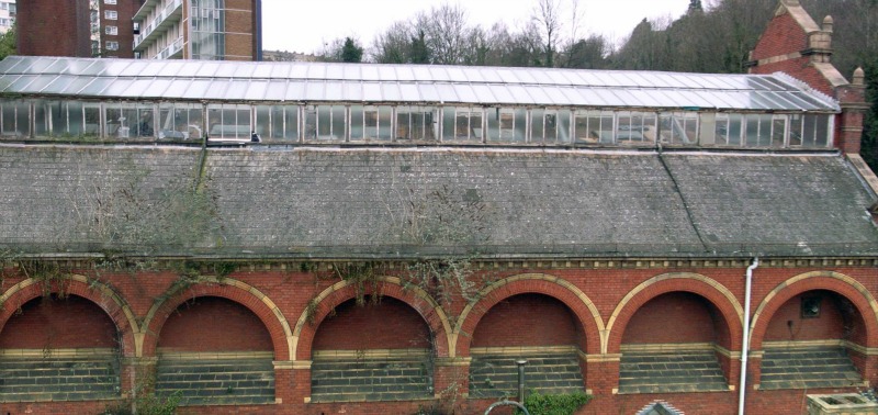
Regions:
M 103 310 L 110 319 L 115 324 L 116 330 L 122 336 L 122 352 L 124 356 L 136 356 L 139 350 L 136 333 L 140 332 L 134 312 L 127 302 L 117 294 L 110 285 L 97 280 L 89 280 L 85 276 L 74 274 L 55 284 L 64 284 L 59 290 L 54 287 L 52 293 L 64 292 L 68 295 L 77 295 L 89 300 L 94 305 Z M 3 332 L 9 318 L 15 311 L 26 302 L 42 296 L 46 293 L 44 282 L 29 278 L 12 285 L 0 295 L 0 334 Z

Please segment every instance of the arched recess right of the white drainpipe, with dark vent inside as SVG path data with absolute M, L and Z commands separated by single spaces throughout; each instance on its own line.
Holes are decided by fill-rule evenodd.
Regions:
M 863 384 L 866 324 L 835 292 L 811 290 L 786 301 L 763 339 L 761 389 L 845 388 Z

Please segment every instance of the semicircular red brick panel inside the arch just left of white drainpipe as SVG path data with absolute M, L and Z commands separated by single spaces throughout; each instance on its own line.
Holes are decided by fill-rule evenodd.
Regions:
M 714 341 L 718 336 L 711 315 L 716 313 L 711 309 L 695 294 L 660 295 L 638 310 L 624 329 L 622 344 Z

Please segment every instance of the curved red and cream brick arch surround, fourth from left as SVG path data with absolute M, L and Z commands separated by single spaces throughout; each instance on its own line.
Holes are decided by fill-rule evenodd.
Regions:
M 491 284 L 479 293 L 481 300 L 463 309 L 452 336 L 457 354 L 469 356 L 472 334 L 482 317 L 500 301 L 518 294 L 543 294 L 566 305 L 585 335 L 585 352 L 598 352 L 605 333 L 604 319 L 592 300 L 564 279 L 544 273 L 524 273 Z

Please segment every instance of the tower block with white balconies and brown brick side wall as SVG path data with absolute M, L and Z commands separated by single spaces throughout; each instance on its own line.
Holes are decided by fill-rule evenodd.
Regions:
M 260 0 L 147 0 L 134 15 L 145 59 L 260 60 Z

